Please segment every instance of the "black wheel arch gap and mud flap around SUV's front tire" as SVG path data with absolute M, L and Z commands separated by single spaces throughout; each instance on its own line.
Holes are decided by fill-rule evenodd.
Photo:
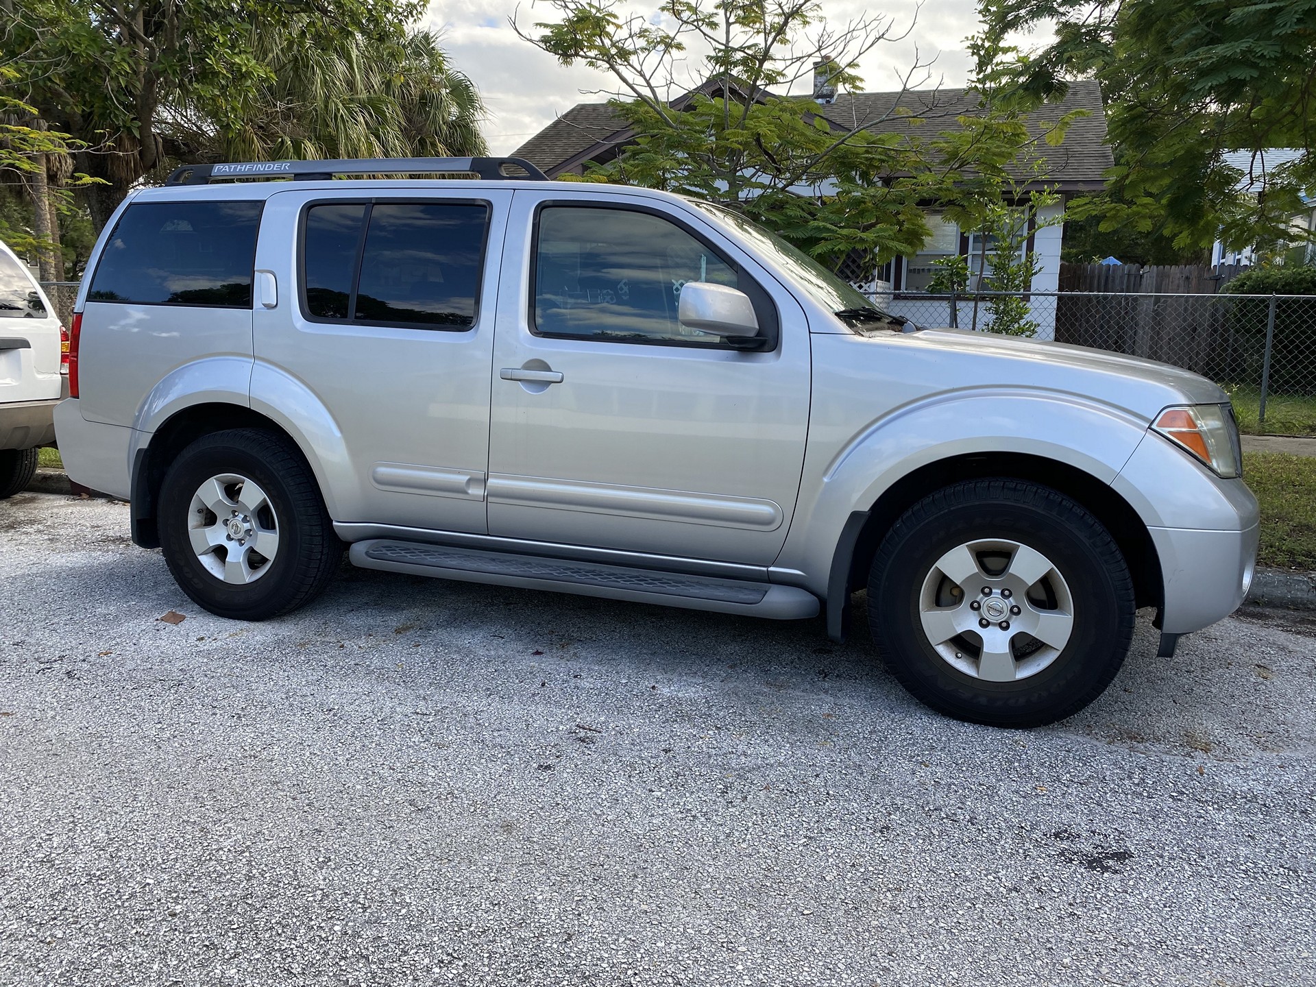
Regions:
M 967 453 L 920 466 L 887 487 L 867 511 L 850 515 L 828 580 L 828 634 L 845 634 L 850 594 L 867 580 L 882 538 L 907 509 L 936 490 L 962 480 L 1003 478 L 1050 487 L 1083 505 L 1119 545 L 1138 607 L 1165 605 L 1161 559 L 1137 511 L 1108 483 L 1084 470 L 1028 453 Z M 1159 620 L 1159 615 L 1158 615 Z

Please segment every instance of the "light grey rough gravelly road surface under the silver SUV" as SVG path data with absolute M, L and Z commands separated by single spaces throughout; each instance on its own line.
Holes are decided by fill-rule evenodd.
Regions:
M 350 569 L 225 621 L 18 496 L 0 983 L 1316 983 L 1316 624 L 1154 641 L 995 730 L 819 621 Z

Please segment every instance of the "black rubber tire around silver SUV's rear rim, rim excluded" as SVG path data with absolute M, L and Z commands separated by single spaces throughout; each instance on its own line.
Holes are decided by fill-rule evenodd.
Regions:
M 209 478 L 237 474 L 268 496 L 279 544 L 268 571 L 246 584 L 225 583 L 192 550 L 192 497 Z M 333 579 L 342 561 L 315 475 L 286 438 L 261 429 L 232 429 L 199 438 L 174 461 L 161 486 L 158 525 L 164 561 L 192 600 L 221 617 L 267 620 L 303 607 Z

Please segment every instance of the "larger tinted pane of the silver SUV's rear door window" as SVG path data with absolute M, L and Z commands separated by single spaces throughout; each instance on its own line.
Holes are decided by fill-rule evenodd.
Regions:
M 458 203 L 372 207 L 354 318 L 388 325 L 472 325 L 487 217 L 487 207 Z

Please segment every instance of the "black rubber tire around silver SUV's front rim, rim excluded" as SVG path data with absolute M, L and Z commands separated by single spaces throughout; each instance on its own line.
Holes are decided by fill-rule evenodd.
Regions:
M 1050 665 L 1026 678 L 990 682 L 966 674 L 924 633 L 925 579 L 945 553 L 975 540 L 1009 540 L 1042 550 L 1073 600 L 1069 641 L 1058 653 L 1048 651 Z M 950 587 L 951 600 L 973 605 L 957 590 Z M 974 616 L 983 619 L 984 601 L 978 607 Z M 890 671 L 933 709 L 994 726 L 1063 720 L 1101 695 L 1128 654 L 1134 613 L 1133 580 L 1109 532 L 1070 497 L 1020 480 L 970 480 L 920 500 L 887 533 L 869 578 L 869 624 Z M 954 638 L 969 642 L 966 654 L 973 633 Z M 1020 653 L 1008 646 L 1017 659 Z

